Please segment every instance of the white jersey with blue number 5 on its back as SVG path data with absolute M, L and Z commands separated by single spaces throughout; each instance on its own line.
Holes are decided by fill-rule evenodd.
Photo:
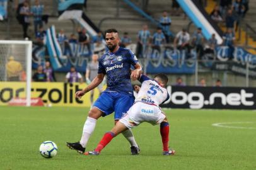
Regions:
M 158 82 L 149 79 L 149 77 L 141 75 L 139 81 L 141 84 L 141 89 L 135 99 L 135 102 L 142 101 L 143 103 L 148 103 L 151 105 L 160 105 L 169 99 L 169 94 L 165 88 L 162 88 Z

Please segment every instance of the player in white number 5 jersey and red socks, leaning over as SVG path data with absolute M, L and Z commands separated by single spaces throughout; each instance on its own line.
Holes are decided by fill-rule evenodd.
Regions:
M 137 94 L 134 105 L 129 109 L 127 115 L 117 122 L 110 132 L 105 133 L 96 149 L 85 152 L 85 155 L 99 155 L 102 149 L 113 139 L 127 129 L 137 127 L 140 123 L 148 122 L 152 125 L 160 124 L 160 133 L 163 143 L 163 155 L 175 154 L 175 150 L 169 149 L 169 123 L 165 113 L 161 111 L 160 104 L 170 98 L 166 84 L 168 77 L 165 74 L 158 74 L 154 79 L 141 75 L 141 89 Z

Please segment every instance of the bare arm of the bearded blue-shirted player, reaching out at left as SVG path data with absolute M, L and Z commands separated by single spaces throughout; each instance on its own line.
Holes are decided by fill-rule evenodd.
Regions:
M 76 98 L 81 98 L 84 94 L 88 93 L 89 91 L 91 91 L 92 89 L 96 88 L 104 79 L 105 74 L 100 73 L 98 74 L 95 79 L 93 79 L 93 81 L 91 81 L 91 83 L 84 88 L 81 91 L 77 91 L 76 92 Z

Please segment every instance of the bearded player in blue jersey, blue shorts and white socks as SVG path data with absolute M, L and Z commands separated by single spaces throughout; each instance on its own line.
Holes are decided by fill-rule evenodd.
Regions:
M 114 119 L 117 123 L 134 103 L 131 78 L 136 80 L 142 72 L 141 65 L 136 56 L 126 48 L 119 47 L 119 34 L 115 29 L 109 29 L 105 34 L 108 52 L 99 59 L 98 75 L 82 91 L 76 92 L 76 98 L 96 88 L 107 75 L 107 89 L 95 101 L 83 127 L 83 135 L 79 142 L 69 143 L 67 147 L 84 153 L 86 144 L 90 139 L 96 125 L 96 120 L 115 112 Z M 131 66 L 134 71 L 131 73 Z M 131 130 L 122 132 L 131 144 L 131 154 L 139 154 L 139 147 Z

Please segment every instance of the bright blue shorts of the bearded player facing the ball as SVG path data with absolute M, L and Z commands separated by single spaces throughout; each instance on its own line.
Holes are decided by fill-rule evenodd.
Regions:
M 103 91 L 95 101 L 93 107 L 103 111 L 102 116 L 107 116 L 115 111 L 115 120 L 119 120 L 127 113 L 134 103 L 134 96 L 115 91 Z

